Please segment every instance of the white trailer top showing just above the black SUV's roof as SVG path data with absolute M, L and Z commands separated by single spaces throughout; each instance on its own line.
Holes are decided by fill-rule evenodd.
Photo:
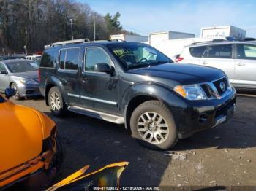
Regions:
M 113 34 L 110 35 L 110 40 L 123 40 L 126 42 L 146 42 L 148 36 L 141 36 L 135 34 Z

